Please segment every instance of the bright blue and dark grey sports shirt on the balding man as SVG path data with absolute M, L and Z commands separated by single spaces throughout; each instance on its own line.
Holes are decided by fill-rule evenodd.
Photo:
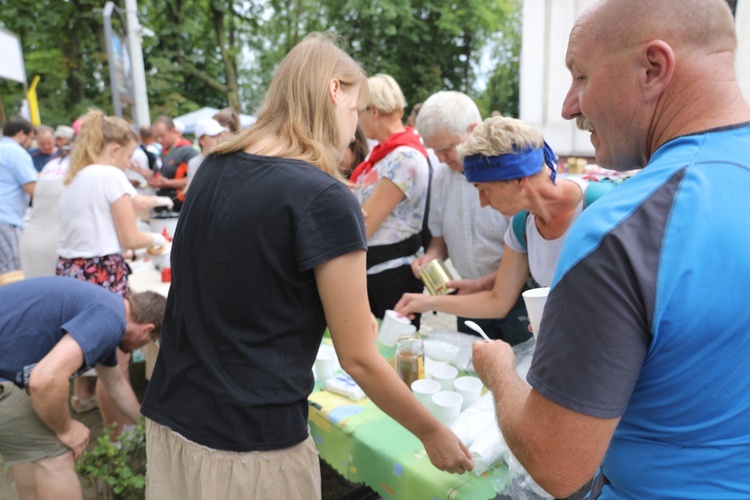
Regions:
M 748 151 L 673 139 L 565 240 L 528 381 L 620 418 L 599 498 L 750 498 Z

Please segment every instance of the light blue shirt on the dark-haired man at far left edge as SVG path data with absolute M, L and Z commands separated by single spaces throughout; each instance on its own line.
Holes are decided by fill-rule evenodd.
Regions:
M 23 227 L 29 196 L 23 185 L 38 177 L 28 151 L 9 137 L 0 139 L 0 224 Z

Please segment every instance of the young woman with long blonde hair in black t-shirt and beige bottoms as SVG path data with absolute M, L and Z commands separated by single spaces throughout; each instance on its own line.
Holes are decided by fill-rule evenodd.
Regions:
M 471 469 L 375 346 L 364 219 L 338 170 L 367 95 L 359 65 L 308 36 L 255 124 L 193 179 L 142 407 L 148 498 L 320 498 L 307 397 L 326 325 L 341 366 L 436 467 Z

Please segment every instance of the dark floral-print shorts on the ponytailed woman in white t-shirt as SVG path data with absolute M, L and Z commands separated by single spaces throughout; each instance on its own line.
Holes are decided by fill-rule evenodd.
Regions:
M 123 298 L 130 297 L 129 274 L 130 268 L 122 255 L 119 254 L 92 258 L 57 258 L 58 276 L 69 276 L 103 286 Z

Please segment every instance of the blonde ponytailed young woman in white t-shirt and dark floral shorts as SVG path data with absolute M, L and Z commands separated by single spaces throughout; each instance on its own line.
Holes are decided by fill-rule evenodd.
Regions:
M 160 234 L 143 233 L 136 226 L 136 192 L 125 169 L 137 145 L 138 136 L 125 120 L 89 111 L 71 153 L 59 203 L 57 275 L 101 285 L 124 298 L 130 296 L 130 286 L 123 250 L 166 244 Z M 129 359 L 118 350 L 126 380 Z M 105 425 L 117 422 L 122 428 L 135 423 L 116 410 L 103 386 L 94 397 L 91 377 L 74 379 L 73 387 L 74 411 L 89 411 L 98 403 Z

